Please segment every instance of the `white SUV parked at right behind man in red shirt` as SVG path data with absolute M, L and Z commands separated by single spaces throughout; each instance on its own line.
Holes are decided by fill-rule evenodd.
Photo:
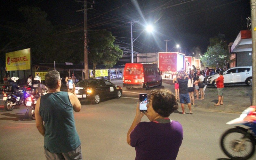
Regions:
M 207 79 L 208 84 L 212 84 L 214 87 L 216 86 L 216 82 L 214 81 L 220 75 L 215 74 L 209 76 Z M 233 67 L 223 72 L 224 76 L 224 85 L 225 84 L 247 84 L 252 86 L 252 66 L 243 66 L 243 67 Z

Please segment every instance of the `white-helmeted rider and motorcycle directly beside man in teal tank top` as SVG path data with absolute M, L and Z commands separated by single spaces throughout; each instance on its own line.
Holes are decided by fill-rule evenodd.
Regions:
M 41 84 L 41 78 L 39 76 L 35 76 L 34 77 L 34 82 L 32 84 L 32 88 L 30 90 L 27 90 L 27 94 L 29 95 L 26 98 L 26 106 L 27 111 L 26 111 L 26 115 L 28 115 L 28 117 L 30 119 L 35 120 L 35 108 L 36 108 L 36 102 L 37 99 L 48 93 L 49 91 L 47 90 L 47 88 Z

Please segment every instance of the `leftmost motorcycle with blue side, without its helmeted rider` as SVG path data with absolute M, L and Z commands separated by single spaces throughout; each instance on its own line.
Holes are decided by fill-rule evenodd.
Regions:
M 17 93 L 13 93 L 10 92 L 9 94 L 6 94 L 6 98 L 4 97 L 4 99 L 6 99 L 4 101 L 4 108 L 7 111 L 11 111 L 15 105 L 19 105 L 20 102 L 20 96 L 18 95 L 24 95 L 24 99 L 21 101 L 21 103 L 25 104 L 25 99 L 28 97 L 28 94 L 26 93 L 26 87 L 23 87 L 21 90 L 17 91 Z M 18 94 L 18 95 L 17 95 Z

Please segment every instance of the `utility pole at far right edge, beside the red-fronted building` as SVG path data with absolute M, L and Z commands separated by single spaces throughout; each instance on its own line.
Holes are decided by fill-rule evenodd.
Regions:
M 251 22 L 252 22 L 252 105 L 256 105 L 256 0 L 251 3 Z

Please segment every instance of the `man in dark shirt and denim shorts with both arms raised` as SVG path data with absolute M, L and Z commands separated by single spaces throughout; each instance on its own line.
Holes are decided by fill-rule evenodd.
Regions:
M 182 114 L 185 114 L 185 107 L 184 107 L 185 102 L 188 104 L 190 114 L 193 114 L 191 109 L 189 93 L 188 93 L 188 74 L 186 71 L 181 69 L 180 72 L 178 73 L 178 77 L 179 76 L 180 78 L 177 78 L 177 81 L 179 83 L 179 88 L 180 88 L 179 96 L 180 96 L 180 105 L 182 109 Z

